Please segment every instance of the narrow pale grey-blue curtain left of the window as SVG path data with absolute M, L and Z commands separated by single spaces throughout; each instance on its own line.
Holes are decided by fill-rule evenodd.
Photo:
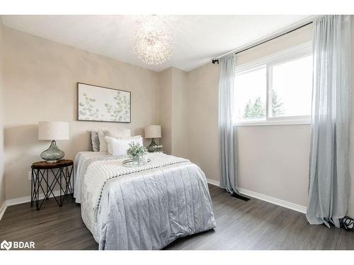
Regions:
M 232 116 L 234 114 L 234 86 L 236 77 L 235 56 L 219 60 L 219 146 L 220 146 L 220 187 L 233 194 L 238 192 L 236 131 Z

